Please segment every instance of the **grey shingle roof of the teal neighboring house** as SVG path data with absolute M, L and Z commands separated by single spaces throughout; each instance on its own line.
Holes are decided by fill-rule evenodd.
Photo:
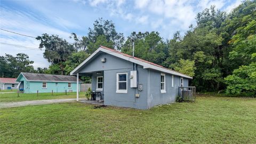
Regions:
M 45 82 L 76 82 L 76 76 L 67 75 L 50 75 L 38 73 L 21 73 L 28 81 L 45 81 Z M 82 82 L 79 79 L 79 82 Z

